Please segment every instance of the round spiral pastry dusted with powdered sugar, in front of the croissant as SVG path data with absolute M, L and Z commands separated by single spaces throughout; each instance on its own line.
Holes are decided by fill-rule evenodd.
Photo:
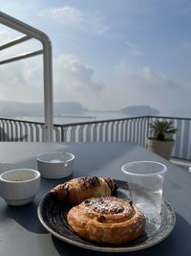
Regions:
M 67 221 L 77 235 L 98 244 L 127 243 L 145 229 L 138 208 L 116 197 L 88 198 L 71 208 Z

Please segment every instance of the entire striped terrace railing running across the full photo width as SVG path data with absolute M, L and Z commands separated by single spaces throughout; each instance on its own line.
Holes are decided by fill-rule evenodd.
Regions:
M 174 135 L 175 147 L 172 157 L 191 160 L 191 118 L 140 116 L 96 122 L 53 126 L 53 142 L 135 142 L 146 147 L 149 123 L 155 120 L 173 122 L 178 128 Z M 43 142 L 44 124 L 0 118 L 0 141 Z

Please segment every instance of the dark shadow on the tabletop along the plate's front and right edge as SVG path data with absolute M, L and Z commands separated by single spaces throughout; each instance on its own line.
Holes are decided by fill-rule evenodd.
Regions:
M 172 233 L 162 242 L 156 244 L 152 247 L 142 249 L 139 251 L 131 252 L 130 254 L 133 256 L 190 256 L 191 255 L 191 225 L 189 222 L 185 221 L 179 214 L 176 214 L 177 222 Z M 111 252 L 100 252 L 100 251 L 92 251 L 88 249 L 83 249 L 81 247 L 74 246 L 72 244 L 67 244 L 65 242 L 60 241 L 59 239 L 53 238 L 53 244 L 57 249 L 59 255 L 83 255 L 88 256 L 91 255 L 111 255 Z M 127 252 L 126 252 L 127 253 Z M 117 253 L 117 255 L 124 255 L 124 252 Z

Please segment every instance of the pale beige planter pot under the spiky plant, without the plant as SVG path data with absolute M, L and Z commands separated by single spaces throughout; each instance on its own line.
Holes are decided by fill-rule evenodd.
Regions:
M 169 159 L 173 150 L 174 141 L 159 141 L 154 139 L 147 139 L 147 149 L 158 153 L 160 156 Z

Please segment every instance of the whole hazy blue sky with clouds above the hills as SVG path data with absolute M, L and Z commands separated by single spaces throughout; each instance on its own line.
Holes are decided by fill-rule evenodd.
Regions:
M 54 102 L 191 116 L 190 0 L 0 0 L 0 11 L 50 37 Z M 0 25 L 0 45 L 19 35 Z M 0 59 L 33 49 L 40 43 Z M 0 65 L 0 100 L 43 102 L 42 63 L 39 56 Z

